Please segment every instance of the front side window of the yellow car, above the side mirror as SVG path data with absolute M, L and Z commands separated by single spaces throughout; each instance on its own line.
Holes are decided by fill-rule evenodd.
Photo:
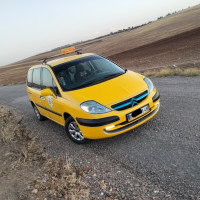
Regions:
M 46 68 L 42 68 L 42 88 L 50 88 L 56 95 L 59 95 L 58 87 L 56 86 L 53 76 Z

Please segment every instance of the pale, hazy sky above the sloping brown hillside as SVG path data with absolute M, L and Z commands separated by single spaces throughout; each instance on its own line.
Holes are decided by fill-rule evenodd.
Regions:
M 0 66 L 197 4 L 200 0 L 0 0 Z

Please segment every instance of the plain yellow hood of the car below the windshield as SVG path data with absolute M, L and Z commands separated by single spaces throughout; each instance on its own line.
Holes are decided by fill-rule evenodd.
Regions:
M 81 104 L 84 101 L 94 100 L 102 105 L 118 102 L 129 96 L 134 96 L 147 89 L 141 75 L 127 71 L 125 74 L 86 88 L 68 91 L 63 97 Z

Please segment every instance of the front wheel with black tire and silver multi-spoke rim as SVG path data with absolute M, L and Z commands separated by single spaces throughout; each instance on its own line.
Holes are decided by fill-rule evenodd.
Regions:
M 77 144 L 86 143 L 87 139 L 82 135 L 78 124 L 71 116 L 65 121 L 65 131 L 73 142 Z

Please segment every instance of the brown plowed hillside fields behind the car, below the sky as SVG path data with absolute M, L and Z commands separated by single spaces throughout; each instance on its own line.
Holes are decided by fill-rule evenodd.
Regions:
M 112 59 L 125 68 L 149 68 L 200 63 L 200 5 L 170 15 L 139 29 L 77 46 Z M 59 54 L 51 51 L 0 68 L 0 85 L 24 82 L 30 66 L 39 59 Z M 32 61 L 32 63 L 28 63 Z

